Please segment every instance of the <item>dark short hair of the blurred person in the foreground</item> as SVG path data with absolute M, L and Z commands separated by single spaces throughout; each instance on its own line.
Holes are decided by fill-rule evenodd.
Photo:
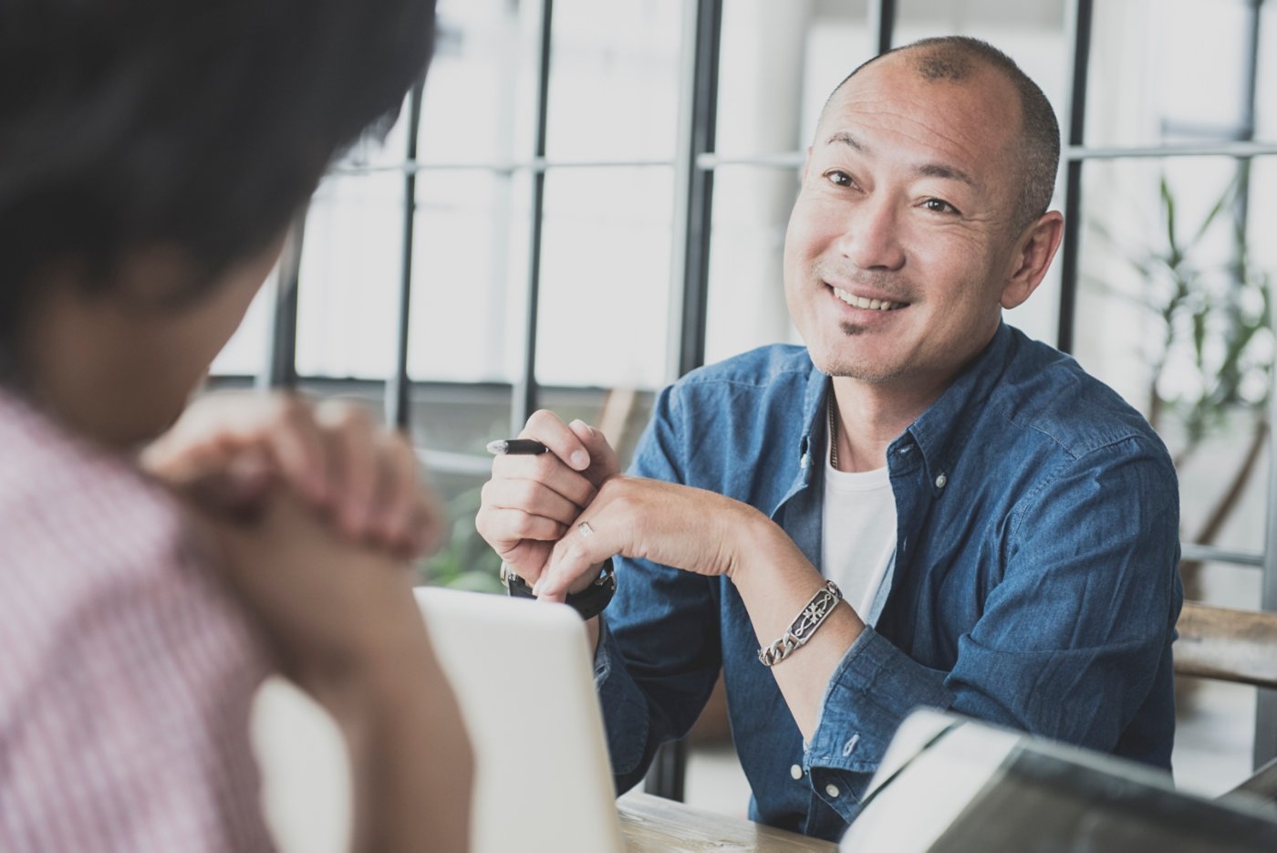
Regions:
M 0 0 L 0 349 L 50 264 L 175 248 L 198 296 L 263 250 L 433 33 L 434 0 Z

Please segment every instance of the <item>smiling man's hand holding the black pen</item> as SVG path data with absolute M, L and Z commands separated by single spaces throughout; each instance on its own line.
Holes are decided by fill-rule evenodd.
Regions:
M 603 433 L 580 420 L 564 424 L 549 411 L 533 414 L 518 438 L 535 438 L 550 452 L 493 460 L 475 527 L 516 575 L 535 584 L 554 543 L 621 464 Z

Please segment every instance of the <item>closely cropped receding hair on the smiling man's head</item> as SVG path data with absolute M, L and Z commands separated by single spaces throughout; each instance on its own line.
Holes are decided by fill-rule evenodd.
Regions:
M 1015 60 L 988 42 L 969 36 L 939 36 L 902 45 L 861 64 L 834 87 L 834 93 L 884 56 L 904 52 L 908 52 L 913 70 L 926 80 L 962 82 L 983 65 L 1000 72 L 1015 87 L 1020 102 L 1020 193 L 1013 225 L 1015 230 L 1023 229 L 1046 213 L 1060 167 L 1060 123 L 1038 84 L 1020 70 Z M 830 101 L 834 93 L 829 96 Z

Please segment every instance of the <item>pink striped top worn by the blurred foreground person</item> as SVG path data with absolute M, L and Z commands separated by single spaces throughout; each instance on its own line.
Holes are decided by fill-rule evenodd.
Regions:
M 175 502 L 0 389 L 0 849 L 266 850 L 268 672 Z

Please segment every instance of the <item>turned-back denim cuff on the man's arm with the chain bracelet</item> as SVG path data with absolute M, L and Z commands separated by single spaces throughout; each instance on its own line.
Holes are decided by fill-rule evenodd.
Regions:
M 829 679 L 803 753 L 816 796 L 850 820 L 909 711 L 953 704 L 945 677 L 866 626 Z

